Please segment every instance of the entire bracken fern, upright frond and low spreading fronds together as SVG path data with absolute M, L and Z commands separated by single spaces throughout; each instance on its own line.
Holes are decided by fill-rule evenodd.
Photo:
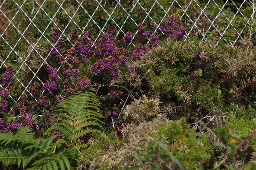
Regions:
M 31 127 L 18 127 L 16 133 L 0 133 L 3 166 L 17 164 L 23 170 L 71 170 L 71 161 L 81 156 L 81 148 L 85 146 L 79 138 L 96 131 L 93 126 L 102 127 L 99 101 L 92 91 L 95 89 L 70 96 L 68 101 L 56 105 L 56 119 L 44 133 L 49 134 L 47 138 L 35 138 Z M 61 132 L 61 138 L 55 143 L 57 136 L 50 133 L 52 130 Z

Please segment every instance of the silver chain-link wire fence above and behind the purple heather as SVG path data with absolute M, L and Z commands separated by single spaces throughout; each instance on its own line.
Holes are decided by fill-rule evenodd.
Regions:
M 135 30 L 135 36 L 139 23 L 154 23 L 156 31 L 174 15 L 188 28 L 185 41 L 192 37 L 209 41 L 214 36 L 233 46 L 255 37 L 255 11 L 254 0 L 0 0 L 0 74 L 3 77 L 9 63 L 19 63 L 13 75 L 23 90 L 20 96 L 9 97 L 18 102 L 24 93 L 33 96 L 29 86 L 34 81 L 43 85 L 39 70 L 50 65 L 49 48 L 42 42 L 53 48 L 57 43 L 52 41 L 53 28 L 70 44 L 71 29 L 93 28 L 95 43 L 109 26 L 117 28 L 117 35 Z M 33 56 L 38 57 L 33 60 Z M 32 76 L 20 77 L 23 71 Z

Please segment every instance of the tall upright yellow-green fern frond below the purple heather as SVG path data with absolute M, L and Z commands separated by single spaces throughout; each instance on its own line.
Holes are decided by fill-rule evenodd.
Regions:
M 65 136 L 67 142 L 76 143 L 84 134 L 96 130 L 92 126 L 102 128 L 103 122 L 99 120 L 102 114 L 99 107 L 99 100 L 92 91 L 70 96 L 67 101 L 55 106 L 55 112 L 61 113 L 54 115 L 57 118 L 45 133 L 58 130 L 62 136 Z

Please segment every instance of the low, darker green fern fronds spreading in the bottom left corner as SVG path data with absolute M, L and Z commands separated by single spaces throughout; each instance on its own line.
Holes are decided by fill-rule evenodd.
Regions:
M 24 137 L 26 139 L 22 139 Z M 34 162 L 28 168 L 30 170 L 70 170 L 68 154 L 52 152 L 55 146 L 61 144 L 53 144 L 55 137 L 35 138 L 31 127 L 18 127 L 16 133 L 0 133 L 0 162 L 6 167 L 17 163 L 18 167 L 22 165 L 23 170 L 29 162 Z

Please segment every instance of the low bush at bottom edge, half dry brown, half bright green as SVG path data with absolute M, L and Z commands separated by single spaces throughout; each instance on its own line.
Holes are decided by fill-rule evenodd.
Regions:
M 79 163 L 80 169 L 145 170 L 154 167 L 164 170 L 166 164 L 174 168 L 195 169 L 207 167 L 212 161 L 213 150 L 207 137 L 195 138 L 195 130 L 187 126 L 184 118 L 178 122 L 166 122 L 162 117 L 155 122 L 127 126 L 124 133 L 125 141 L 118 150 L 113 150 L 112 142 L 105 140 L 108 137 L 100 141 L 96 139 L 94 142 L 97 143 L 91 141 L 86 159 Z M 161 155 L 163 162 L 157 159 L 155 152 L 158 151 L 166 153 Z

